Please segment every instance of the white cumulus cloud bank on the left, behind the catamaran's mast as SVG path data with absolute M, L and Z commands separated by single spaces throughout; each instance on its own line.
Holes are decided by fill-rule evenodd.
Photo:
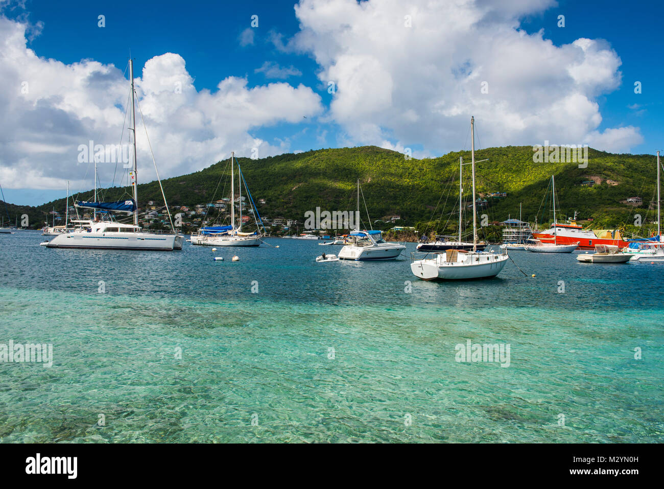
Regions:
M 129 83 L 124 66 L 95 60 L 64 64 L 27 47 L 27 25 L 0 17 L 0 181 L 7 188 L 92 187 L 92 169 L 78 162 L 78 146 L 119 144 Z M 229 76 L 216 90 L 197 90 L 185 60 L 167 52 L 134 65 L 140 108 L 161 177 L 207 167 L 230 151 L 260 157 L 288 151 L 252 135 L 256 128 L 301 122 L 322 111 L 321 98 L 299 84 L 247 86 Z M 137 107 L 139 182 L 155 179 Z M 108 185 L 114 163 L 100 163 Z M 121 166 L 121 165 L 120 165 Z M 119 168 L 118 171 L 122 171 Z M 87 173 L 86 173 L 87 172 Z M 85 178 L 85 179 L 84 179 Z M 118 184 L 118 177 L 116 177 Z

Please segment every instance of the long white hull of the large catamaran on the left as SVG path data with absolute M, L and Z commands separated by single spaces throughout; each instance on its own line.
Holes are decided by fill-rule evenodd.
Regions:
M 54 237 L 46 248 L 172 251 L 182 249 L 179 235 L 149 233 L 68 233 Z

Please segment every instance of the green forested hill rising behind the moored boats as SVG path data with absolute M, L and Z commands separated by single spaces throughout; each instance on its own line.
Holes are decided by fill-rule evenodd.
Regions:
M 400 224 L 426 228 L 429 221 L 442 219 L 442 225 L 432 223 L 439 232 L 452 215 L 458 201 L 459 156 L 470 161 L 469 151 L 448 153 L 431 159 L 405 159 L 402 153 L 375 146 L 340 149 L 319 149 L 305 153 L 288 153 L 262 159 L 239 158 L 244 177 L 254 201 L 266 199 L 258 205 L 261 215 L 284 217 L 303 222 L 305 211 L 316 207 L 327 210 L 355 209 L 355 185 L 359 178 L 372 221 L 400 215 Z M 490 147 L 475 152 L 475 159 L 488 159 L 476 165 L 477 193 L 488 205 L 481 213 L 489 221 L 503 221 L 508 215 L 519 217 L 519 203 L 523 203 L 523 220 L 535 221 L 539 209 L 539 223 L 548 222 L 550 201 L 542 200 L 552 174 L 556 175 L 556 194 L 562 215 L 578 211 L 580 219 L 594 219 L 594 227 L 617 227 L 633 224 L 635 213 L 644 219 L 655 195 L 655 157 L 653 155 L 612 154 L 590 149 L 588 167 L 577 163 L 534 163 L 531 146 Z M 193 206 L 227 197 L 228 182 L 224 178 L 218 192 L 214 191 L 223 173 L 228 173 L 228 161 L 220 161 L 201 171 L 163 181 L 169 205 Z M 464 180 L 470 181 L 464 170 Z M 583 181 L 596 180 L 592 187 Z M 614 184 L 607 183 L 614 181 Z M 615 182 L 618 182 L 617 184 Z M 226 185 L 226 192 L 221 189 Z M 126 196 L 124 188 L 106 189 L 106 201 Z M 492 199 L 488 193 L 505 192 L 507 197 Z M 86 197 L 91 191 L 83 193 Z M 469 194 L 467 194 L 469 195 Z M 641 207 L 620 203 L 627 197 L 639 196 Z M 139 207 L 147 201 L 161 203 L 157 182 L 139 185 Z M 437 207 L 438 205 L 438 207 Z M 10 206 L 13 213 L 28 213 L 31 223 L 41 223 L 48 211 L 55 207 L 64 211 L 64 199 L 44 203 L 38 207 Z M 434 212 L 435 209 L 435 212 Z M 366 221 L 364 205 L 361 205 Z M 35 226 L 37 227 L 37 226 Z M 387 227 L 387 226 L 386 226 Z M 448 223 L 448 231 L 456 223 Z M 640 233 L 645 234 L 645 233 Z

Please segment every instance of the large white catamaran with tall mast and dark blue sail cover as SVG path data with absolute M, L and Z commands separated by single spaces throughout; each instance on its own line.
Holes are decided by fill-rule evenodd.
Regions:
M 74 248 L 74 249 L 104 249 L 104 250 L 179 250 L 182 249 L 183 237 L 179 235 L 175 228 L 174 233 L 152 233 L 142 231 L 138 225 L 138 181 L 137 181 L 137 161 L 136 161 L 136 114 L 133 86 L 133 60 L 129 60 L 129 79 L 131 81 L 131 125 L 129 128 L 132 136 L 133 147 L 133 167 L 129 171 L 131 185 L 133 187 L 133 199 L 126 199 L 117 202 L 97 202 L 95 176 L 95 199 L 93 202 L 76 201 L 74 205 L 83 209 L 93 209 L 94 218 L 89 226 L 80 226 L 70 233 L 62 233 L 51 241 L 44 241 L 42 246 L 47 248 Z M 159 173 L 157 173 L 159 179 Z M 159 180 L 161 187 L 161 180 Z M 166 197 L 161 193 L 166 203 Z M 167 209 L 168 204 L 166 203 Z M 118 223 L 114 221 L 103 221 L 97 219 L 97 211 L 116 211 L 120 213 L 133 214 L 133 224 Z M 170 218 L 170 213 L 169 213 Z M 173 223 L 171 222 L 171 227 Z

